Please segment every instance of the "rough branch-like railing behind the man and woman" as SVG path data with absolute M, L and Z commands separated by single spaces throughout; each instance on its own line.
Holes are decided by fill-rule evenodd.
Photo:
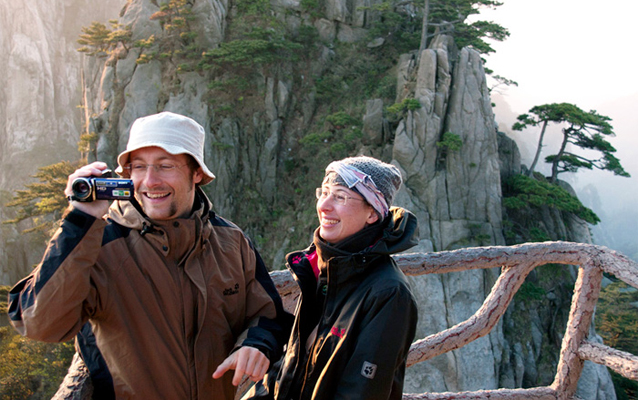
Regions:
M 573 399 L 585 360 L 604 365 L 622 376 L 638 381 L 638 357 L 587 340 L 589 326 L 600 293 L 603 271 L 638 289 L 638 264 L 601 246 L 545 242 L 517 246 L 474 247 L 438 253 L 412 253 L 394 256 L 406 275 L 444 274 L 501 267 L 501 275 L 481 308 L 466 321 L 412 344 L 408 366 L 461 348 L 487 335 L 497 324 L 527 275 L 544 264 L 567 264 L 579 267 L 572 305 L 563 337 L 554 382 L 550 386 L 530 389 L 496 389 L 461 393 L 404 394 L 403 399 Z M 294 310 L 299 296 L 297 285 L 288 271 L 271 273 L 284 307 Z M 84 368 L 84 369 L 83 369 Z M 83 399 L 86 393 L 86 370 L 74 359 L 65 382 L 54 399 Z M 90 390 L 90 389 L 89 389 Z

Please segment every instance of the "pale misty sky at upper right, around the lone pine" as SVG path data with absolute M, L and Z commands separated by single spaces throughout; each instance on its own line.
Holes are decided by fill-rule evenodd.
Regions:
M 495 54 L 486 57 L 486 66 L 518 83 L 518 87 L 499 90 L 512 115 L 547 103 L 573 103 L 585 111 L 596 110 L 612 119 L 616 137 L 608 138 L 617 149 L 616 156 L 631 178 L 610 172 L 583 171 L 561 174 L 572 184 L 586 205 L 603 223 L 624 221 L 627 234 L 638 238 L 638 2 L 627 0 L 501 0 L 496 10 L 481 12 L 480 18 L 497 22 L 510 31 L 502 43 L 493 43 Z M 498 94 L 495 94 L 498 97 Z M 498 103 L 497 103 L 498 104 Z M 497 105 L 497 120 L 503 125 L 507 110 Z M 499 115 L 500 114 L 500 115 Z M 511 116 L 509 117 L 511 118 Z M 559 131 L 558 131 L 559 132 Z M 520 134 L 532 145 L 538 130 Z M 547 147 L 550 147 L 549 145 Z M 534 149 L 522 150 L 523 163 L 530 164 Z M 556 149 L 550 149 L 553 154 Z M 530 159 L 525 159 L 526 153 Z M 546 153 L 544 153 L 546 154 Z M 543 163 L 544 164 L 544 163 Z M 545 164 L 547 165 L 547 164 Z M 541 166 L 541 168 L 546 168 Z M 587 186 L 593 185 L 600 197 L 597 210 L 594 199 L 587 198 Z M 632 210 L 629 214 L 624 210 Z M 638 242 L 638 239 L 633 239 Z

